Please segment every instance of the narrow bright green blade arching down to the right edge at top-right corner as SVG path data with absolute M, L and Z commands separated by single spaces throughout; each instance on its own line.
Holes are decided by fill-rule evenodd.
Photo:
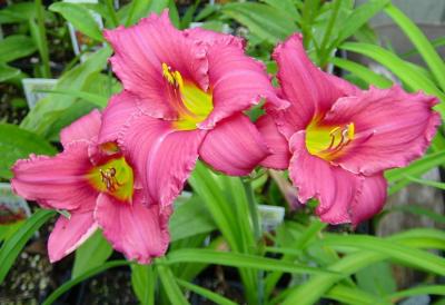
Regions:
M 445 62 L 436 52 L 429 39 L 422 30 L 399 9 L 389 4 L 385 12 L 396 22 L 413 45 L 418 49 L 423 59 L 428 65 L 442 90 L 445 90 Z

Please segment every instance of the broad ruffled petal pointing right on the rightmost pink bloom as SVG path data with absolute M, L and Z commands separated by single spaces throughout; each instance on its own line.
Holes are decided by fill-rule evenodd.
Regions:
M 409 95 L 398 87 L 370 88 L 357 97 L 339 99 L 325 121 L 354 122 L 357 140 L 335 163 L 365 175 L 406 166 L 425 152 L 441 124 L 432 110 L 436 102 L 434 97 Z

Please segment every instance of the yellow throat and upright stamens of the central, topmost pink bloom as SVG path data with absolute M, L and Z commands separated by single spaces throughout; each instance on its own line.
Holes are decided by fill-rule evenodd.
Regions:
M 211 91 L 205 92 L 194 82 L 184 80 L 179 71 L 162 63 L 162 76 L 169 85 L 170 100 L 178 111 L 174 127 L 179 130 L 197 129 L 214 109 Z

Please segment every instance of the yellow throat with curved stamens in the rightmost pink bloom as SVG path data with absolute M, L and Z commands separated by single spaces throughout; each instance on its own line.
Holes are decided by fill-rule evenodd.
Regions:
M 319 119 L 314 119 L 306 128 L 306 148 L 317 157 L 333 160 L 354 140 L 355 125 L 324 126 Z

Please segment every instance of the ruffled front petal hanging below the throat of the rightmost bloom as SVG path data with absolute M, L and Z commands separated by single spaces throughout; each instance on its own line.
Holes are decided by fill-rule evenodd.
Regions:
M 350 207 L 360 191 L 364 177 L 349 173 L 338 166 L 310 155 L 306 150 L 305 131 L 290 139 L 289 176 L 298 188 L 301 203 L 317 198 L 317 214 L 329 224 L 350 223 Z

